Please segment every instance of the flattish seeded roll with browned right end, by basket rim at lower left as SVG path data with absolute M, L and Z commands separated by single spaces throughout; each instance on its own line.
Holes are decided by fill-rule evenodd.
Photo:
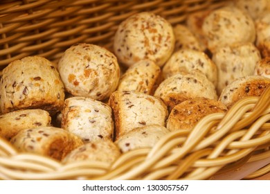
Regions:
M 58 127 L 36 127 L 19 131 L 10 143 L 19 152 L 63 159 L 71 150 L 83 145 L 78 136 Z

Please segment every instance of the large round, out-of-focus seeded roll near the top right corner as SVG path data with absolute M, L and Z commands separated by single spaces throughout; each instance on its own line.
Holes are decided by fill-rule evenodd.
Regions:
M 212 53 L 220 47 L 255 41 L 253 19 L 233 6 L 213 10 L 204 19 L 202 30 Z

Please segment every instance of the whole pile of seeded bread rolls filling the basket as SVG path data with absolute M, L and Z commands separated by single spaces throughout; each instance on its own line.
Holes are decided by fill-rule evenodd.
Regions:
M 0 81 L 0 136 L 19 152 L 111 164 L 192 130 L 270 86 L 269 10 L 267 0 L 239 0 L 175 26 L 140 12 L 119 25 L 114 51 L 79 43 L 57 64 L 11 62 Z

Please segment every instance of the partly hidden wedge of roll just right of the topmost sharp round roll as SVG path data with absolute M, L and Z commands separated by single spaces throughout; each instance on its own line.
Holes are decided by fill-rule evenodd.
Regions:
M 195 51 L 204 51 L 195 35 L 183 24 L 174 26 L 175 46 L 174 52 L 180 49 L 189 48 Z

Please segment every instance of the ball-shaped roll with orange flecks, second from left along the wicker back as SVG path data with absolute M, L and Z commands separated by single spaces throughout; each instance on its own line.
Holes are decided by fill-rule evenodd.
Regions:
M 58 70 L 66 91 L 96 100 L 109 98 L 120 78 L 116 56 L 93 44 L 77 44 L 66 49 Z

